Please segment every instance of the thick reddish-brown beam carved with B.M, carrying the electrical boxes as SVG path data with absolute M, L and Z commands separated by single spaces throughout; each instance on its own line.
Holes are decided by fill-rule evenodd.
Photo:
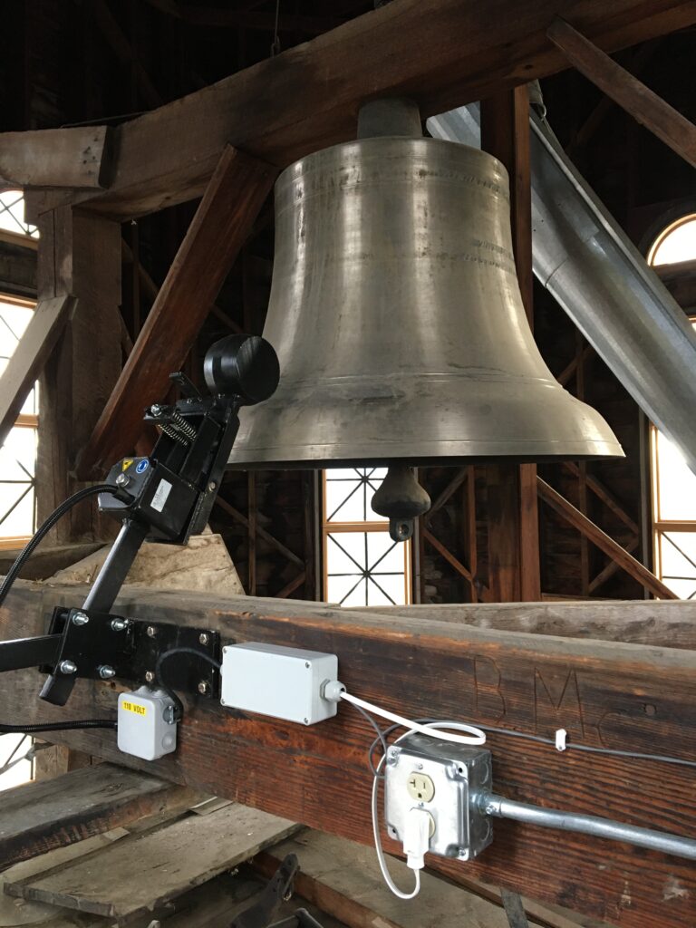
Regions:
M 0 610 L 0 637 L 40 633 L 45 611 L 74 601 L 74 590 L 20 583 Z M 440 621 L 433 607 L 402 608 L 381 614 L 326 603 L 127 590 L 116 606 L 121 614 L 141 619 L 216 628 L 224 641 L 335 653 L 349 691 L 411 717 L 458 718 L 551 742 L 557 728 L 566 728 L 572 744 L 693 762 L 696 652 L 522 630 L 534 628 L 529 616 L 541 609 L 562 616 L 558 603 L 461 607 L 479 616 L 474 625 L 452 616 Z M 696 623 L 691 602 L 576 603 L 569 608 L 580 626 L 583 621 L 601 625 L 602 615 L 611 610 L 614 627 L 628 625 L 629 634 L 641 616 L 650 616 L 651 623 L 642 623 L 644 634 L 656 638 L 661 637 L 662 616 L 669 621 L 679 615 L 691 628 Z M 496 610 L 509 621 L 516 615 L 517 630 L 482 627 L 495 622 Z M 39 688 L 34 670 L 2 675 L 4 714 L 27 723 L 66 717 L 66 710 L 36 699 Z M 343 705 L 335 719 L 305 728 L 226 711 L 214 701 L 186 702 L 176 754 L 154 764 L 119 754 L 109 731 L 56 737 L 128 767 L 371 843 L 372 780 L 365 752 L 374 734 L 350 706 Z M 101 716 L 114 704 L 108 685 L 79 680 L 69 714 Z M 561 754 L 553 743 L 501 733 L 490 734 L 489 747 L 501 793 L 688 836 L 696 830 L 690 767 L 573 748 Z M 496 822 L 495 833 L 494 844 L 474 863 L 429 857 L 428 864 L 453 876 L 464 872 L 541 900 L 564 902 L 622 928 L 664 928 L 665 923 L 691 928 L 696 919 L 696 870 L 689 861 L 570 833 L 561 839 L 511 822 Z M 398 850 L 385 844 L 390 852 Z M 665 887 L 679 891 L 665 899 Z

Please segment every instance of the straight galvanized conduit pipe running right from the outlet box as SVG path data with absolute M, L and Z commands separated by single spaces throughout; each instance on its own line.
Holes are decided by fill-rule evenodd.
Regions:
M 693 838 L 683 838 L 678 834 L 668 834 L 666 831 L 639 828 L 638 825 L 625 825 L 619 821 L 612 821 L 611 818 L 531 806 L 528 803 L 506 799 L 505 796 L 499 796 L 496 793 L 478 793 L 472 799 L 484 815 L 493 818 L 511 818 L 514 821 L 526 822 L 528 825 L 538 825 L 541 828 L 553 828 L 558 831 L 577 831 L 581 834 L 590 834 L 595 838 L 624 841 L 626 844 L 647 847 L 651 851 L 660 851 L 662 854 L 673 854 L 675 857 L 688 857 L 690 860 L 696 860 L 696 840 Z

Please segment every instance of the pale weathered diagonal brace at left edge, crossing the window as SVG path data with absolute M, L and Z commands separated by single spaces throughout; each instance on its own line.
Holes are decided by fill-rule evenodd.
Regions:
M 0 376 L 0 445 L 15 424 L 75 304 L 74 297 L 67 295 L 36 304 L 29 326 Z

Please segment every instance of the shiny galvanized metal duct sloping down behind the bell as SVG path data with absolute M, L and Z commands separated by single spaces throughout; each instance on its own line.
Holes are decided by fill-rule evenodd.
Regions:
M 696 473 L 696 335 L 662 281 L 534 111 L 535 275 Z M 478 104 L 433 116 L 437 138 L 480 146 Z

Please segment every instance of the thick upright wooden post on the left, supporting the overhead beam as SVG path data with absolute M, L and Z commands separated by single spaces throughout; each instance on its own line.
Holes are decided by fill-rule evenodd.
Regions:
M 62 207 L 40 219 L 39 300 L 71 296 L 75 312 L 47 359 L 40 380 L 36 465 L 39 522 L 79 489 L 74 461 L 118 379 L 121 353 L 121 226 Z M 106 540 L 113 520 L 84 504 L 58 522 L 54 544 Z

